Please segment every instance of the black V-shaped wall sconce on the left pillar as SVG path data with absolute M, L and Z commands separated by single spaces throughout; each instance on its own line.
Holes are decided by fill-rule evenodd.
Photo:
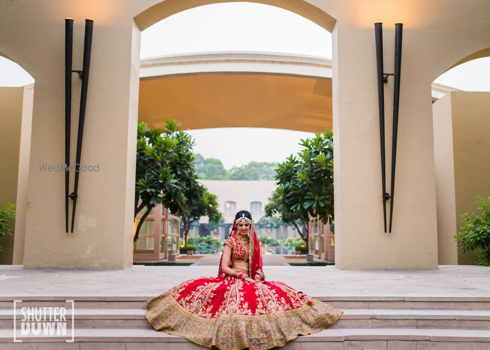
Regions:
M 92 51 L 92 31 L 94 20 L 85 20 L 85 38 L 83 44 L 83 68 L 81 71 L 72 71 L 73 56 L 73 18 L 65 18 L 65 226 L 68 233 L 68 202 L 69 198 L 73 200 L 72 208 L 72 226 L 75 220 L 76 199 L 78 197 L 78 177 L 80 156 L 82 150 L 83 124 L 85 122 L 85 106 L 87 104 L 87 89 L 89 84 L 90 54 Z M 70 185 L 70 125 L 72 116 L 72 73 L 78 73 L 82 79 L 80 93 L 80 114 L 78 116 L 78 134 L 76 138 L 76 160 L 75 160 L 75 184 L 73 192 L 68 194 Z

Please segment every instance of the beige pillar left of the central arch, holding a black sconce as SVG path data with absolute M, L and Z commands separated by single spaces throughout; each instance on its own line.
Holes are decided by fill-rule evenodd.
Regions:
M 137 125 L 139 31 L 133 21 L 117 24 L 95 3 L 81 9 L 73 2 L 57 7 L 12 4 L 22 17 L 36 19 L 19 27 L 30 38 L 21 64 L 36 79 L 32 115 L 25 268 L 121 269 L 132 266 L 135 143 Z M 5 5 L 5 7 L 7 7 Z M 20 8 L 22 7 L 22 8 Z M 123 11 L 121 8 L 120 10 Z M 41 11 L 42 13 L 39 13 Z M 46 12 L 46 15 L 43 13 Z M 45 167 L 64 162 L 64 17 L 73 17 L 73 70 L 81 69 L 84 19 L 95 18 L 81 165 L 73 233 L 65 233 L 64 172 Z M 13 18 L 14 17 L 10 17 Z M 19 14 L 15 15 L 19 18 Z M 15 28 L 12 23 L 7 27 Z M 42 29 L 41 29 L 42 28 Z M 12 29 L 14 30 L 14 29 Z M 46 33 L 49 32 L 49 37 Z M 15 43 L 8 43 L 15 48 Z M 16 60 L 17 61 L 17 60 Z M 35 69 L 41 65 L 42 69 Z M 31 67 L 32 69 L 30 69 Z M 74 164 L 81 80 L 73 74 L 71 163 Z M 70 176 L 73 191 L 74 172 Z M 71 205 L 70 205 L 71 217 Z M 18 261 L 18 263 L 20 263 Z

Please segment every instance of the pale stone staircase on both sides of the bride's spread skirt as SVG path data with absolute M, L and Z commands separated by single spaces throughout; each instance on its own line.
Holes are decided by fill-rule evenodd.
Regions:
M 0 349 L 204 349 L 185 338 L 155 331 L 143 302 L 151 297 L 0 298 Z M 13 302 L 66 306 L 75 300 L 74 343 L 24 337 L 13 343 Z M 281 349 L 490 350 L 490 298 L 317 298 L 344 310 L 336 324 L 299 336 Z M 19 312 L 18 312 L 19 313 Z M 70 320 L 71 316 L 67 316 Z M 68 328 L 71 322 L 68 322 Z

